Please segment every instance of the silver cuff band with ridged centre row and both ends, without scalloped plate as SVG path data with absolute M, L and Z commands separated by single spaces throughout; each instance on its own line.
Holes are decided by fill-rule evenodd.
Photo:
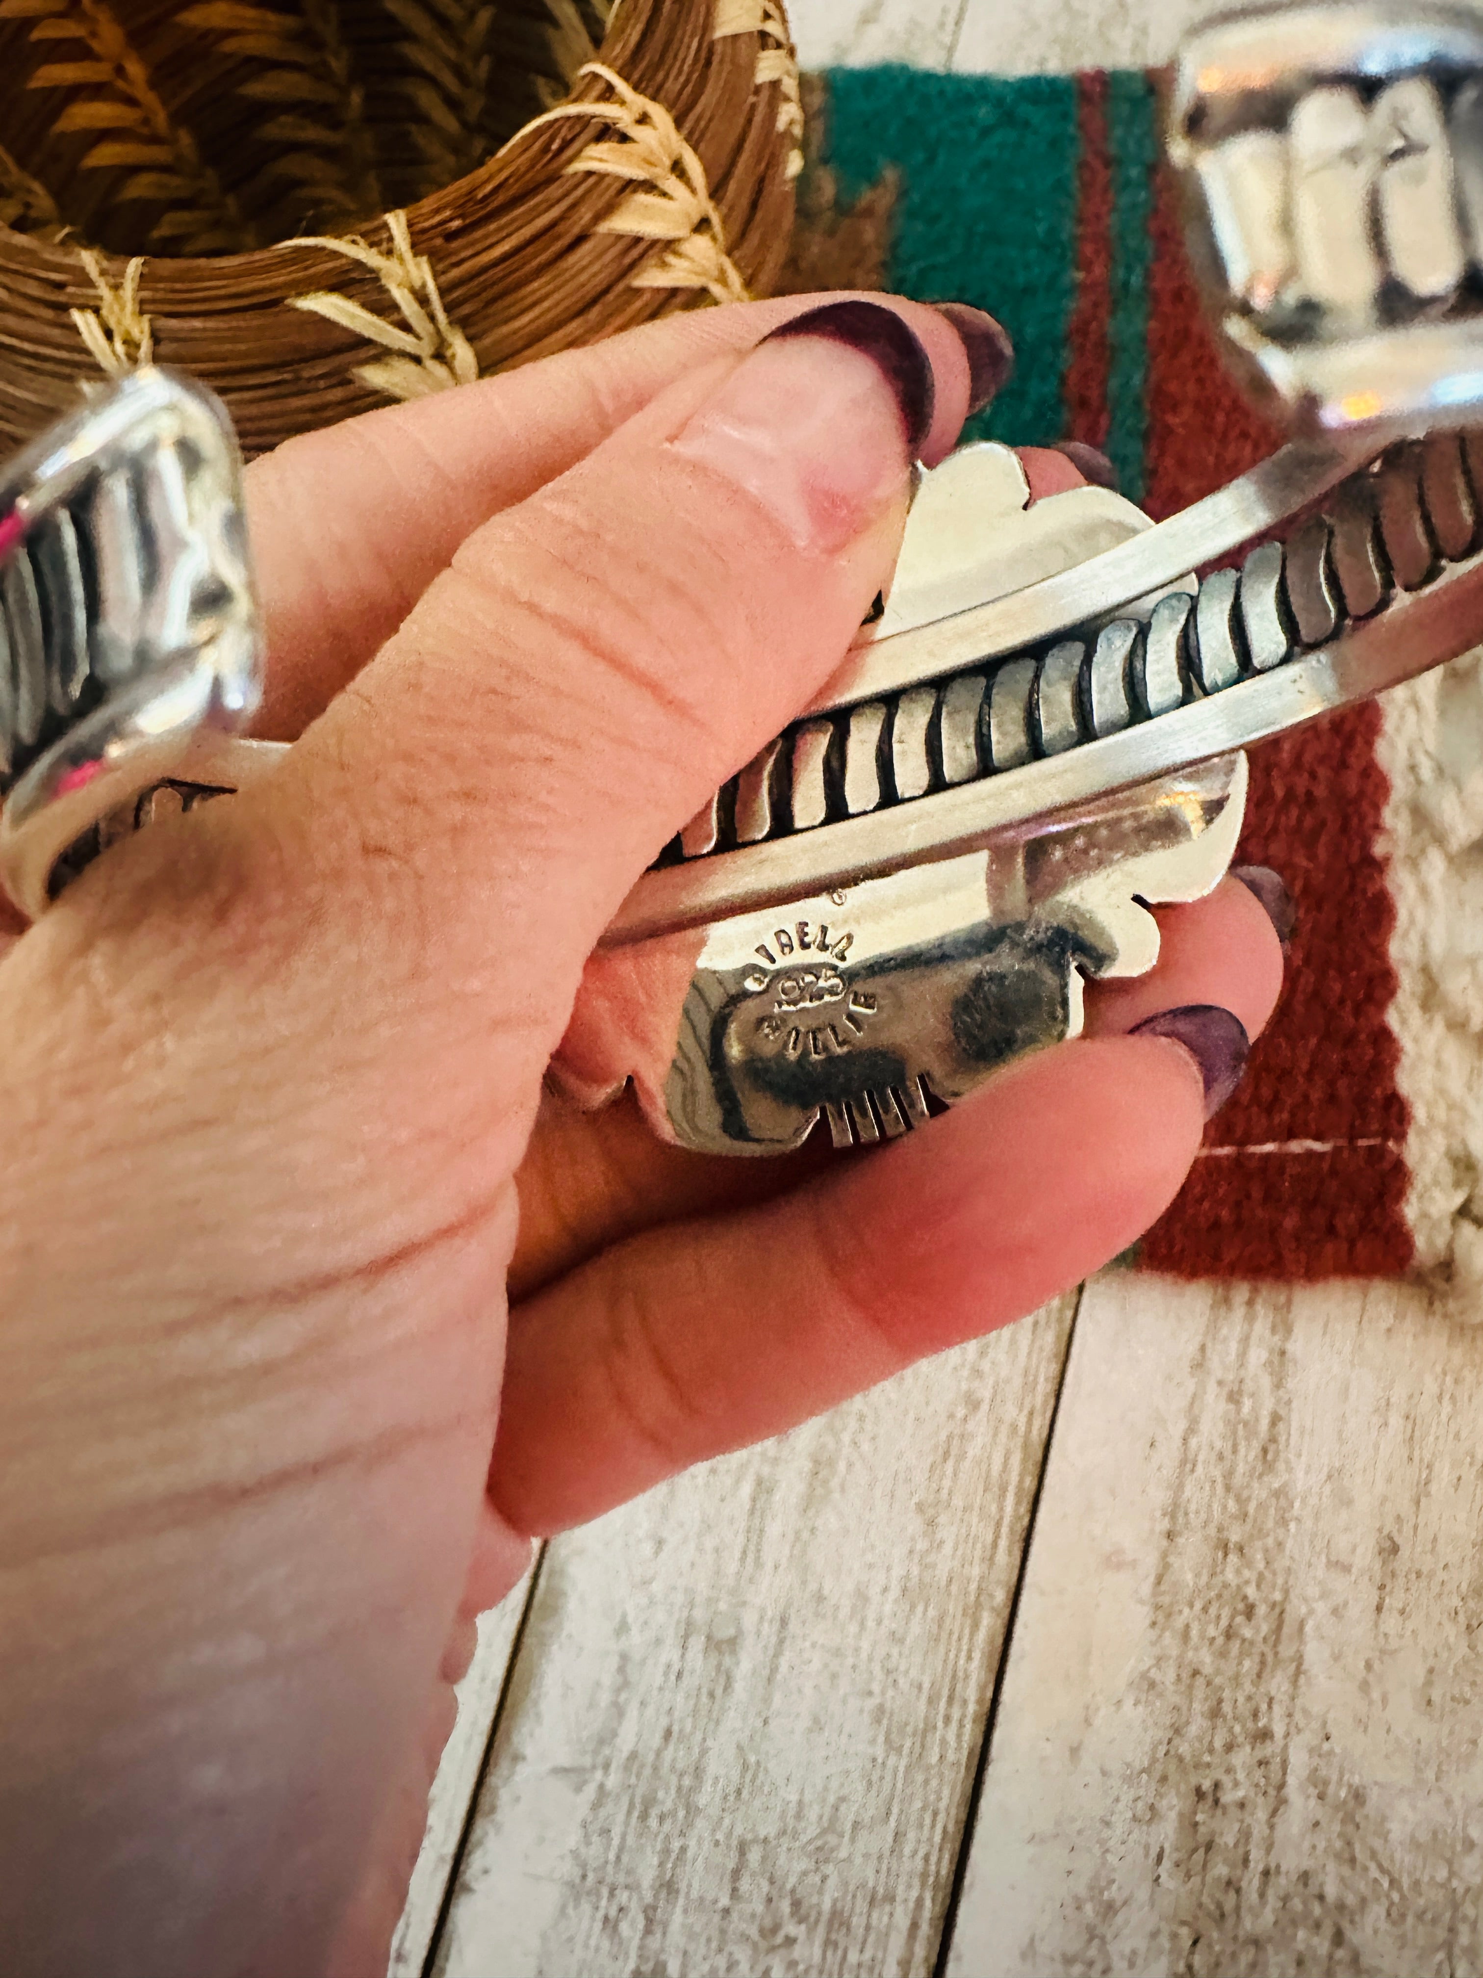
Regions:
M 1080 554 L 1006 595 L 959 566 L 935 609 L 888 613 L 613 940 L 951 856 L 1471 643 L 1483 449 L 1416 435 L 1483 417 L 1483 24 L 1376 4 L 1218 20 L 1184 45 L 1169 150 L 1228 350 L 1323 437 L 1127 540 L 1095 500 L 1038 504 Z M 1034 570 L 1044 544 L 1022 536 Z M 271 762 L 219 742 L 255 706 L 259 647 L 210 394 L 138 372 L 6 469 L 0 882 L 24 912 L 154 815 L 154 785 L 225 789 Z

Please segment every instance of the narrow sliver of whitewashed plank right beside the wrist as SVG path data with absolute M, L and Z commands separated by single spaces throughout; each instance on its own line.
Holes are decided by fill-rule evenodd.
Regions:
M 479 1616 L 479 1648 L 469 1663 L 469 1673 L 459 1683 L 459 1719 L 453 1737 L 443 1747 L 437 1778 L 427 1796 L 427 1832 L 417 1867 L 411 1871 L 407 1903 L 392 1938 L 388 1978 L 421 1978 L 427 1966 L 469 1806 L 479 1792 L 479 1774 L 484 1768 L 484 1753 L 530 1586 L 532 1573 L 526 1573 L 496 1608 Z

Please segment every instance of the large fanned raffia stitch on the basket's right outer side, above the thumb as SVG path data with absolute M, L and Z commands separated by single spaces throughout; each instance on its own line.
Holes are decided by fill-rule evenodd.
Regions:
M 647 186 L 599 220 L 595 233 L 623 233 L 633 239 L 672 241 L 672 245 L 633 277 L 635 289 L 704 289 L 718 303 L 749 301 L 747 285 L 726 251 L 726 227 L 710 196 L 706 168 L 674 127 L 662 103 L 639 95 L 601 61 L 587 61 L 577 75 L 597 75 L 617 103 L 560 103 L 518 131 L 510 144 L 530 131 L 569 117 L 595 117 L 619 133 L 611 142 L 587 144 L 567 172 L 603 172 Z M 510 148 L 508 144 L 504 146 Z

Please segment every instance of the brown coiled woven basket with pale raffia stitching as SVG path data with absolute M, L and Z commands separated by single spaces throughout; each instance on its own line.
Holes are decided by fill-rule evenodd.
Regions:
M 767 293 L 781 0 L 0 0 L 0 451 L 146 358 L 253 455 Z

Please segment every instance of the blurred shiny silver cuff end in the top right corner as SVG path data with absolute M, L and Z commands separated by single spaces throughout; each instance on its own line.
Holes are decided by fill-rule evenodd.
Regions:
M 1457 425 L 1483 392 L 1483 20 L 1264 8 L 1184 44 L 1169 156 L 1204 301 L 1307 427 Z

